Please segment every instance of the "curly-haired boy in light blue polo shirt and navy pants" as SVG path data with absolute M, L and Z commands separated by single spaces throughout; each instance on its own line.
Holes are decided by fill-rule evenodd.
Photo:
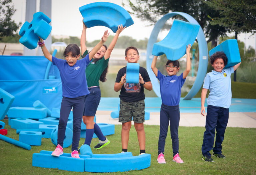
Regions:
M 222 142 L 225 129 L 228 123 L 229 106 L 231 104 L 231 80 L 230 76 L 240 66 L 237 65 L 223 69 L 227 64 L 227 56 L 223 52 L 216 52 L 210 57 L 211 65 L 214 71 L 208 73 L 204 79 L 204 85 L 201 93 L 201 114 L 205 113 L 204 102 L 208 89 L 210 90 L 207 99 L 207 115 L 205 123 L 204 140 L 202 145 L 202 160 L 214 162 L 210 151 L 218 158 L 226 158 L 222 154 Z M 213 148 L 216 128 L 216 141 Z

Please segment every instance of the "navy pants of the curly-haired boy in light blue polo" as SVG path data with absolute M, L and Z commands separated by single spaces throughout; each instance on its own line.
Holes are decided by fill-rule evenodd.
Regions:
M 202 154 L 211 156 L 210 151 L 213 150 L 215 154 L 221 154 L 222 151 L 222 142 L 224 139 L 225 130 L 228 124 L 229 108 L 217 107 L 208 105 L 206 123 L 205 123 L 205 132 L 204 140 L 202 145 Z M 216 129 L 216 140 L 215 147 L 214 136 Z

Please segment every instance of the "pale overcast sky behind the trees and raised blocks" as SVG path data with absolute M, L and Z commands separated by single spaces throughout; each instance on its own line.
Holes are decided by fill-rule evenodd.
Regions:
M 39 11 L 39 0 L 37 1 L 37 11 Z M 82 32 L 82 15 L 79 11 L 79 7 L 93 3 L 93 2 L 112 2 L 117 5 L 122 6 L 122 1 L 127 4 L 127 0 L 52 0 L 52 31 L 51 34 L 54 35 L 65 35 L 65 36 L 81 36 Z M 25 10 L 26 10 L 26 0 L 12 0 L 14 8 L 17 9 L 13 15 L 15 22 L 25 22 Z M 127 7 L 125 7 L 127 9 Z M 129 10 L 129 9 L 127 9 Z M 142 22 L 140 19 L 131 15 L 134 24 L 127 27 L 121 35 L 131 36 L 136 40 L 149 38 L 153 26 L 148 26 L 147 22 Z M 28 21 L 31 22 L 31 21 Z M 91 42 L 100 39 L 103 35 L 104 30 L 107 27 L 96 26 L 91 27 L 87 30 L 87 41 Z M 110 35 L 115 35 L 110 29 Z M 159 39 L 163 39 L 169 31 L 160 32 L 158 35 Z M 234 34 L 229 34 L 234 35 Z M 246 41 L 246 47 L 251 45 L 255 49 L 255 35 L 248 37 L 250 34 L 240 34 L 238 39 L 240 41 Z

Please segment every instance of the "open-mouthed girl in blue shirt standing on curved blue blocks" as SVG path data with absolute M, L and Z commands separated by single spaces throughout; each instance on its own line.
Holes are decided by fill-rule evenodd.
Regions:
M 73 140 L 71 157 L 80 158 L 78 155 L 78 143 L 80 140 L 81 122 L 84 110 L 84 99 L 90 92 L 87 88 L 85 69 L 91 62 L 93 55 L 101 48 L 108 38 L 108 31 L 104 32 L 101 41 L 92 49 L 85 59 L 77 60 L 80 57 L 80 49 L 76 44 L 66 47 L 63 56 L 66 60 L 53 57 L 40 38 L 39 46 L 42 48 L 45 58 L 56 65 L 60 71 L 62 82 L 62 102 L 60 107 L 60 119 L 58 126 L 57 147 L 52 152 L 52 156 L 59 157 L 63 154 L 63 140 L 68 121 L 68 116 L 73 107 Z

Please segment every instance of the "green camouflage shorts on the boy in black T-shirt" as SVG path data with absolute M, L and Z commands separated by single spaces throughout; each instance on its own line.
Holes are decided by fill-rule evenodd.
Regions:
M 126 102 L 120 100 L 119 122 L 125 123 L 134 121 L 135 123 L 145 122 L 144 100 Z

